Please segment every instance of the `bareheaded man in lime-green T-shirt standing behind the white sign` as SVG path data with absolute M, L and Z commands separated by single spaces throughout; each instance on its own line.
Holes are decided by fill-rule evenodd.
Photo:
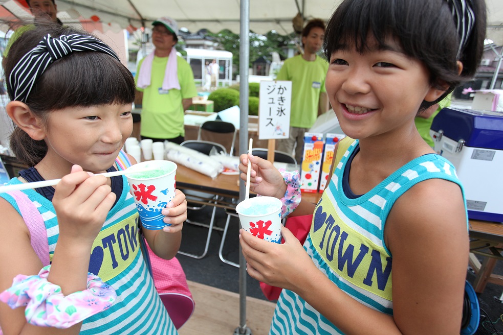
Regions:
M 283 63 L 276 80 L 292 81 L 290 137 L 276 140 L 276 150 L 292 154 L 298 163 L 304 149 L 304 133 L 313 126 L 318 115 L 329 109 L 325 91 L 325 75 L 329 64 L 317 55 L 323 43 L 325 23 L 312 19 L 302 30 L 304 53 Z

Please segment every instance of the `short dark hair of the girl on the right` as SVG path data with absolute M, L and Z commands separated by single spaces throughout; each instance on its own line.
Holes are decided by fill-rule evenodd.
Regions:
M 458 0 L 449 0 L 458 1 Z M 446 97 L 461 82 L 475 75 L 482 58 L 486 35 L 486 4 L 472 0 L 475 23 L 468 43 L 457 58 L 460 45 L 451 9 L 446 0 L 344 0 L 327 23 L 323 49 L 327 59 L 337 50 L 356 47 L 369 49 L 367 38 L 374 37 L 378 48 L 387 38 L 397 41 L 405 55 L 418 59 L 428 68 L 433 87 L 449 89 L 427 108 Z M 458 74 L 456 61 L 463 63 Z

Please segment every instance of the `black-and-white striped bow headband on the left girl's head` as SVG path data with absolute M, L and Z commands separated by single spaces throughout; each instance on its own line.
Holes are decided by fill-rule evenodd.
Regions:
M 52 62 L 74 51 L 97 51 L 108 54 L 120 62 L 117 54 L 99 39 L 86 35 L 61 35 L 57 38 L 47 34 L 37 46 L 21 58 L 12 69 L 9 85 L 14 100 L 26 103 L 33 86 Z

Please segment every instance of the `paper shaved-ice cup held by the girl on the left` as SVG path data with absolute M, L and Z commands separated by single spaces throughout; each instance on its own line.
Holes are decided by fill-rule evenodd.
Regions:
M 170 224 L 164 223 L 161 213 L 166 204 L 175 196 L 177 164 L 168 160 L 150 160 L 135 164 L 128 169 L 155 170 L 126 175 L 129 186 L 133 189 L 136 207 L 142 226 L 146 229 L 162 229 Z

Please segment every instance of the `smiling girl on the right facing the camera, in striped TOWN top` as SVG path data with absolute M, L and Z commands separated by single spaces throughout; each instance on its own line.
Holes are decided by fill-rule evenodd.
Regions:
M 283 288 L 270 334 L 459 334 L 469 238 L 463 186 L 414 117 L 475 74 L 483 0 L 344 0 L 327 24 L 326 92 L 341 157 L 318 204 L 242 155 L 250 189 L 313 214 L 301 246 L 240 230 L 253 278 Z M 285 179 L 285 180 L 283 180 Z

